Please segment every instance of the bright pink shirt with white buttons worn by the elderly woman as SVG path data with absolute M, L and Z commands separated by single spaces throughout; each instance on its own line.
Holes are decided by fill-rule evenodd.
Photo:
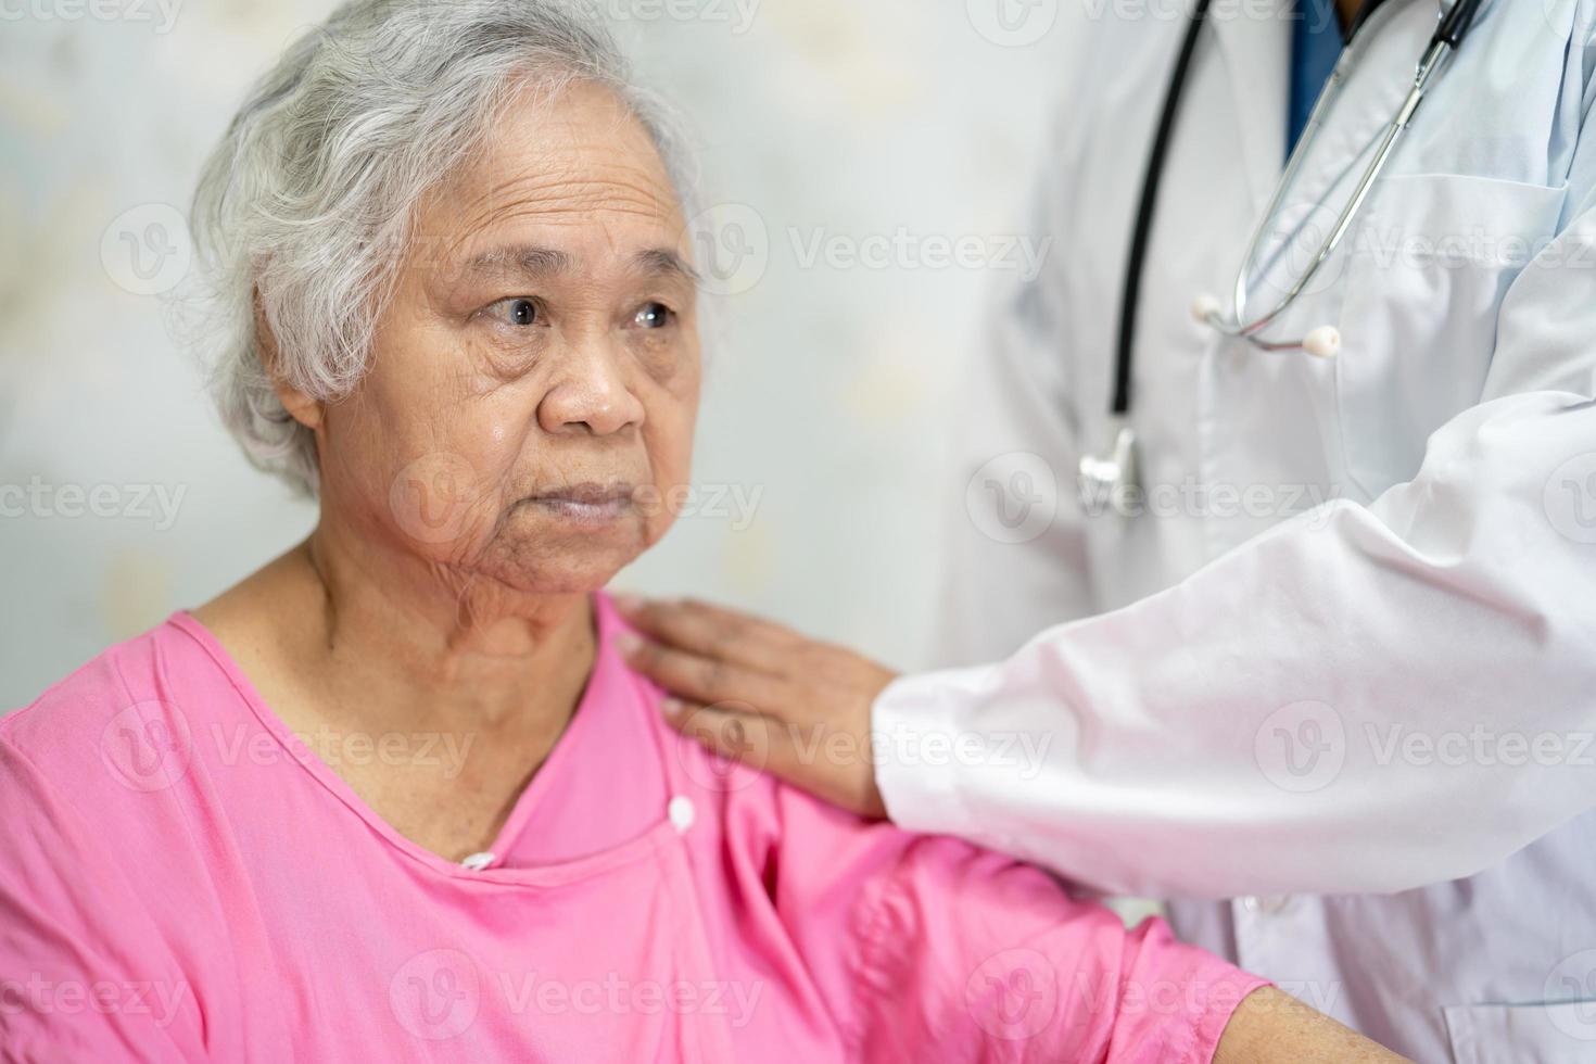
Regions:
M 182 613 L 0 721 L 0 1056 L 1171 1064 L 1261 986 L 720 763 L 659 719 L 603 598 L 598 627 L 479 869 L 380 820 Z

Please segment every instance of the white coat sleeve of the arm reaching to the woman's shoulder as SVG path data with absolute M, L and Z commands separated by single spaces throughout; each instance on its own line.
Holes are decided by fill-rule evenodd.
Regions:
M 892 818 L 1112 892 L 1395 892 L 1596 804 L 1596 145 L 1483 402 L 1336 501 L 875 708 Z

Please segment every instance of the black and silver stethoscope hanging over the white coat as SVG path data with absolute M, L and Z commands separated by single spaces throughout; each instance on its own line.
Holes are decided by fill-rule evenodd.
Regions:
M 1262 335 L 1262 332 L 1269 329 L 1269 325 L 1272 325 L 1298 300 L 1299 295 L 1302 295 L 1309 282 L 1312 282 L 1314 276 L 1318 273 L 1318 268 L 1336 254 L 1336 249 L 1341 246 L 1341 239 L 1347 234 L 1347 230 L 1352 228 L 1352 222 L 1363 207 L 1363 201 L 1368 199 L 1369 191 L 1374 188 L 1374 182 L 1385 169 L 1385 163 L 1390 160 L 1392 152 L 1395 152 L 1396 142 L 1412 123 L 1412 116 L 1417 113 L 1419 104 L 1424 102 L 1432 80 L 1446 65 L 1446 61 L 1462 46 L 1464 37 L 1468 35 L 1483 0 L 1456 0 L 1451 8 L 1443 8 L 1438 16 L 1440 24 L 1436 26 L 1435 35 L 1430 37 L 1430 43 L 1425 46 L 1424 56 L 1419 59 L 1419 65 L 1412 78 L 1412 89 L 1408 93 L 1408 99 L 1403 100 L 1401 107 L 1396 108 L 1396 113 L 1385 126 L 1385 132 L 1381 136 L 1374 156 L 1369 160 L 1368 167 L 1365 167 L 1363 175 L 1358 179 L 1358 183 L 1352 191 L 1352 198 L 1336 217 L 1336 223 L 1320 242 L 1318 252 L 1307 262 L 1307 266 L 1298 274 L 1296 281 L 1290 289 L 1286 289 L 1285 295 L 1282 295 L 1274 306 L 1261 314 L 1248 317 L 1248 286 L 1254 276 L 1254 266 L 1258 265 L 1264 241 L 1269 236 L 1270 225 L 1280 212 L 1280 206 L 1285 201 L 1286 191 L 1291 188 L 1298 171 L 1302 167 L 1302 161 L 1312 153 L 1314 142 L 1318 139 L 1318 132 L 1325 124 L 1325 116 L 1329 115 L 1329 108 L 1334 105 L 1336 97 L 1341 96 L 1341 89 L 1345 85 L 1347 77 L 1357 65 L 1357 49 L 1352 46 L 1353 41 L 1357 40 L 1360 30 L 1368 24 L 1369 16 L 1384 6 L 1384 3 L 1385 0 L 1366 0 L 1358 11 L 1358 16 L 1342 35 L 1341 59 L 1336 61 L 1336 67 L 1331 72 L 1329 80 L 1325 83 L 1323 91 L 1318 94 L 1314 110 L 1309 112 L 1307 124 L 1302 128 L 1302 136 L 1298 137 L 1298 144 L 1291 150 L 1290 160 L 1286 160 L 1286 169 L 1282 174 L 1280 182 L 1275 185 L 1274 196 L 1270 196 L 1269 207 L 1259 219 L 1258 228 L 1253 230 L 1253 236 L 1246 246 L 1246 254 L 1242 258 L 1242 266 L 1235 273 L 1235 306 L 1231 313 L 1224 313 L 1219 300 L 1211 295 L 1199 297 L 1192 306 L 1192 314 L 1197 321 L 1211 325 L 1227 337 L 1245 340 L 1261 351 L 1306 351 L 1307 354 L 1318 357 L 1334 357 L 1341 351 L 1341 332 L 1334 325 L 1321 325 L 1298 340 L 1269 340 Z M 1191 69 L 1192 53 L 1197 49 L 1197 35 L 1202 32 L 1203 22 L 1208 16 L 1208 5 L 1210 0 L 1197 0 L 1197 6 L 1192 11 L 1191 22 L 1186 27 L 1186 37 L 1181 41 L 1181 49 L 1175 61 L 1175 72 L 1170 77 L 1170 88 L 1163 97 L 1163 110 L 1159 115 L 1157 131 L 1152 137 L 1152 152 L 1148 156 L 1148 172 L 1141 183 L 1141 201 L 1136 207 L 1136 227 L 1130 239 L 1130 257 L 1125 266 L 1124 295 L 1120 297 L 1119 356 L 1114 365 L 1114 399 L 1109 407 L 1111 423 L 1114 426 L 1112 442 L 1108 453 L 1087 455 L 1080 459 L 1079 487 L 1082 509 L 1087 514 L 1096 512 L 1104 501 L 1122 515 L 1128 515 L 1135 509 L 1130 496 L 1138 487 L 1136 434 L 1132 431 L 1127 418 L 1130 415 L 1132 346 L 1136 335 L 1136 308 L 1141 297 L 1141 274 L 1148 257 L 1148 239 L 1152 231 L 1152 214 L 1159 201 L 1159 180 L 1163 177 L 1163 156 L 1168 152 L 1170 136 L 1175 131 L 1175 116 L 1179 110 L 1181 93 L 1186 88 L 1186 73 Z

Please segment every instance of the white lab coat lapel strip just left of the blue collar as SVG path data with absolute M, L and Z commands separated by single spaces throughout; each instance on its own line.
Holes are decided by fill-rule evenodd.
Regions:
M 1238 123 L 1242 169 L 1254 217 L 1269 206 L 1285 169 L 1291 14 L 1291 0 L 1274 0 L 1267 6 L 1219 0 L 1208 11 L 1234 110 L 1197 121 Z

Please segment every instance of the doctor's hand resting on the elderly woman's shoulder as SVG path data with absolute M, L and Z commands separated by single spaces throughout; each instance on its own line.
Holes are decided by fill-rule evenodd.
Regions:
M 886 817 L 870 707 L 897 673 L 733 609 L 627 595 L 614 605 L 643 636 L 616 644 L 674 692 L 662 710 L 678 732 L 854 814 Z

